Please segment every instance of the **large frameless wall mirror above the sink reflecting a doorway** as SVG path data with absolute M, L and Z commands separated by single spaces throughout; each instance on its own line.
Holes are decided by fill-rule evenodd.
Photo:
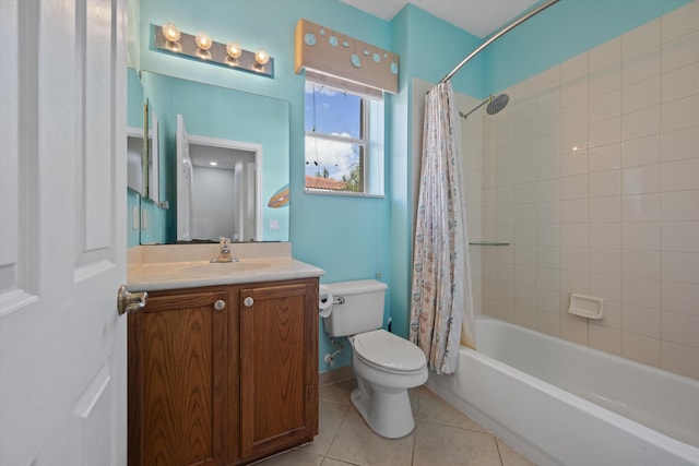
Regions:
M 288 241 L 288 101 L 147 71 L 139 84 L 159 127 L 155 208 L 169 207 L 142 219 L 141 243 Z

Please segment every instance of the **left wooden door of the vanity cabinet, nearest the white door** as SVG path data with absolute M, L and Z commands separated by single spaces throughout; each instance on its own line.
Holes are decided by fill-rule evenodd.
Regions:
M 129 314 L 129 465 L 221 465 L 225 290 L 153 294 Z

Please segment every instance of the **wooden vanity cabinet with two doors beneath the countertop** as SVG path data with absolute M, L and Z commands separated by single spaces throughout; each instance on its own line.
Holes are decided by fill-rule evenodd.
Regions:
M 311 441 L 317 308 L 315 277 L 151 292 L 129 314 L 129 465 L 238 465 Z

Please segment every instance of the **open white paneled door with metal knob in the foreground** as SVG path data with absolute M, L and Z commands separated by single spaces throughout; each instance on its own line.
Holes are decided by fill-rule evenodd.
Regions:
M 122 0 L 0 0 L 0 465 L 126 465 Z

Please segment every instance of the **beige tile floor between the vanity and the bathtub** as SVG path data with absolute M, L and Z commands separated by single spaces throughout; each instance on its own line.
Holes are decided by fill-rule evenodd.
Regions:
M 320 387 L 320 433 L 312 443 L 256 463 L 262 466 L 524 466 L 524 456 L 425 387 L 411 391 L 415 430 L 375 434 L 350 403 L 354 380 Z

